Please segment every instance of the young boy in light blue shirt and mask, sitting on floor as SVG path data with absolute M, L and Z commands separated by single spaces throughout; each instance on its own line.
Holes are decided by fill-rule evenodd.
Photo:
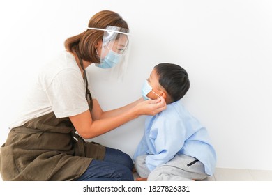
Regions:
M 190 88 L 186 70 L 172 63 L 156 65 L 142 88 L 145 100 L 165 98 L 167 109 L 147 116 L 135 155 L 137 180 L 204 180 L 212 176 L 216 152 L 206 128 L 181 104 Z

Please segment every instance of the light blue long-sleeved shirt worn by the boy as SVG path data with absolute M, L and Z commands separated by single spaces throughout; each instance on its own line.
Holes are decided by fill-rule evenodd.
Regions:
M 216 166 L 216 151 L 211 145 L 206 128 L 181 104 L 181 100 L 167 105 L 156 116 L 147 116 L 145 132 L 133 159 L 146 157 L 150 171 L 169 162 L 176 154 L 197 158 L 211 176 Z

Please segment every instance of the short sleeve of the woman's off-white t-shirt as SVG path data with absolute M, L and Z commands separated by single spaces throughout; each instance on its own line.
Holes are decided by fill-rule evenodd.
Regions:
M 61 70 L 45 91 L 57 118 L 75 116 L 88 110 L 85 92 L 82 75 L 73 68 Z

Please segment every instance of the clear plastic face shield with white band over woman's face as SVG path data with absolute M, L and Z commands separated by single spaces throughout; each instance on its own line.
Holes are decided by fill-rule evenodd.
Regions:
M 128 29 L 116 26 L 107 26 L 106 29 L 88 29 L 104 31 L 100 55 L 99 68 L 109 69 L 111 77 L 121 78 L 128 65 L 129 34 Z M 97 51 L 96 51 L 97 52 Z

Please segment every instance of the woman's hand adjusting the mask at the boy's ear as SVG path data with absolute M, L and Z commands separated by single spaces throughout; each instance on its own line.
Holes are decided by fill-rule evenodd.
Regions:
M 143 102 L 139 102 L 136 108 L 138 115 L 154 116 L 166 109 L 166 103 L 165 99 L 163 97 L 160 97 L 156 100 L 145 100 Z

